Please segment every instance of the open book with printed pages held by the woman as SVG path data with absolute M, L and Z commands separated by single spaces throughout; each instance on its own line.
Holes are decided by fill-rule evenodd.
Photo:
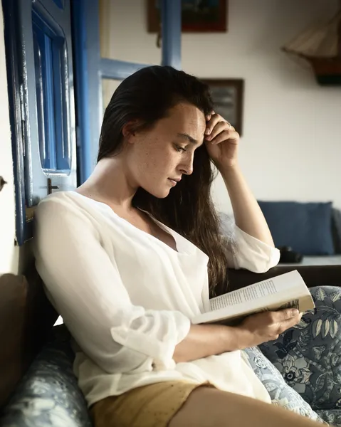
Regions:
M 195 316 L 192 323 L 229 325 L 256 312 L 284 308 L 297 308 L 300 312 L 306 312 L 315 307 L 298 270 L 211 298 L 209 303 L 210 311 Z

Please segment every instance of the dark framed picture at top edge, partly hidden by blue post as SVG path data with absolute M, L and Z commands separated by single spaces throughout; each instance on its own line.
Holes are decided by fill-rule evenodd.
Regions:
M 147 0 L 149 33 L 160 31 L 160 0 Z M 227 31 L 228 0 L 182 0 L 182 31 Z

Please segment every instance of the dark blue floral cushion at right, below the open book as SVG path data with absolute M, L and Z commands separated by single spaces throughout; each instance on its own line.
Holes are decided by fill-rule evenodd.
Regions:
M 341 288 L 310 291 L 314 312 L 259 348 L 323 419 L 341 426 Z

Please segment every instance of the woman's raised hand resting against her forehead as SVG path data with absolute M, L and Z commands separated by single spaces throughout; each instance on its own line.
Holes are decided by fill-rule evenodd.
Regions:
M 229 122 L 214 112 L 206 116 L 205 143 L 218 169 L 238 164 L 239 134 Z

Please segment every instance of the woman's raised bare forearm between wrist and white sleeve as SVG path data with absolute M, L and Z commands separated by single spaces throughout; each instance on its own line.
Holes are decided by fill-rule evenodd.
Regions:
M 261 208 L 248 188 L 238 165 L 219 168 L 226 189 L 229 191 L 236 225 L 258 240 L 274 246 L 271 232 Z

